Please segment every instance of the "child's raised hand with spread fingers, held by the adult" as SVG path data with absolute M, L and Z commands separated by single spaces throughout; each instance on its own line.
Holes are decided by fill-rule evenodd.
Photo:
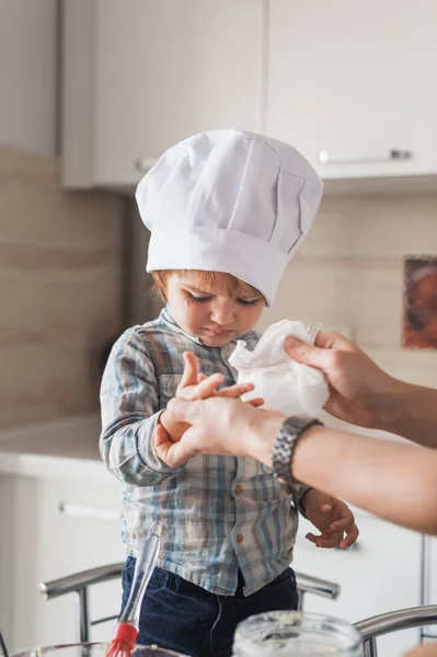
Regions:
M 220 373 L 211 374 L 209 377 L 199 374 L 198 360 L 196 356 L 191 351 L 185 351 L 184 373 L 182 374 L 181 382 L 177 385 L 176 399 L 194 401 L 206 400 L 210 396 L 240 397 L 241 395 L 254 389 L 252 383 L 241 383 L 217 390 L 218 385 L 220 385 L 222 381 L 223 376 Z M 263 404 L 263 400 L 255 399 L 251 400 L 250 403 L 254 406 L 261 406 Z M 189 425 L 177 422 L 169 408 L 165 408 L 165 411 L 162 413 L 160 417 L 160 425 L 162 425 L 162 427 L 165 429 L 170 445 L 177 442 L 184 433 L 189 428 Z M 162 451 L 163 435 L 162 431 L 160 431 L 160 445 Z M 156 447 L 158 447 L 157 442 L 158 436 L 156 436 Z M 163 460 L 165 461 L 165 459 Z

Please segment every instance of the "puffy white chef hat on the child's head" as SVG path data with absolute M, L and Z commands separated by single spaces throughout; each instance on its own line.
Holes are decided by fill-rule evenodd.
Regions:
M 188 137 L 137 187 L 139 214 L 151 231 L 147 270 L 225 272 L 272 306 L 322 192 L 314 170 L 287 143 L 240 130 Z

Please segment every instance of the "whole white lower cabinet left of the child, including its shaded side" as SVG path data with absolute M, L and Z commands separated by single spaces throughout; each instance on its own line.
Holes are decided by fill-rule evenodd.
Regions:
M 47 459 L 48 468 L 51 461 Z M 118 535 L 120 484 L 102 463 L 94 469 L 95 482 L 82 479 L 80 471 L 0 476 L 0 522 L 8 528 L 0 552 L 0 625 L 4 622 L 11 652 L 76 639 L 74 595 L 44 602 L 41 581 L 125 558 Z M 117 613 L 120 596 L 119 580 L 91 588 L 91 618 Z M 113 627 L 93 627 L 92 641 L 106 641 Z

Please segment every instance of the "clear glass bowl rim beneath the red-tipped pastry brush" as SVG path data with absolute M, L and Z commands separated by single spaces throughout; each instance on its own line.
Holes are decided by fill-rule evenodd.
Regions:
M 43 646 L 20 650 L 11 657 L 105 657 L 111 643 L 69 644 L 59 646 Z M 187 657 L 180 653 L 165 650 L 158 646 L 135 646 L 131 657 Z

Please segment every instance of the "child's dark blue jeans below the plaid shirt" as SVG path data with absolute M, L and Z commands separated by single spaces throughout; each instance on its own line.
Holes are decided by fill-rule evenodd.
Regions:
M 123 608 L 135 569 L 129 556 L 123 570 Z M 276 609 L 297 609 L 295 573 L 286 568 L 261 590 L 245 597 L 239 573 L 234 596 L 218 596 L 199 586 L 156 568 L 141 606 L 138 643 L 157 644 L 191 657 L 230 657 L 233 634 L 240 621 Z

